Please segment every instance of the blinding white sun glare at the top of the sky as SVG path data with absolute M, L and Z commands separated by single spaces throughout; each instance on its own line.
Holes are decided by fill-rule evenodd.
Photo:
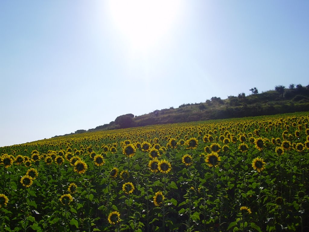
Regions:
M 132 48 L 145 51 L 171 29 L 180 12 L 180 1 L 113 0 L 109 2 L 109 12 Z

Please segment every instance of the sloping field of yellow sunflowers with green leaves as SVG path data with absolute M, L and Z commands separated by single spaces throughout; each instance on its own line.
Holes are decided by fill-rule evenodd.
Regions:
M 307 112 L 0 148 L 0 231 L 309 231 Z

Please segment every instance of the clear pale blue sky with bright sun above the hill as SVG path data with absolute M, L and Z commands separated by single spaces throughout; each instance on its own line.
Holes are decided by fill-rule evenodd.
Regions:
M 309 1 L 0 1 L 0 147 L 309 84 Z

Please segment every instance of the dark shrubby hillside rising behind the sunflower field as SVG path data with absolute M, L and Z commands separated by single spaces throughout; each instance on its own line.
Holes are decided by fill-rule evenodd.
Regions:
M 258 93 L 256 88 L 252 88 L 251 91 L 252 94 L 248 96 L 240 93 L 237 97 L 228 96 L 227 99 L 212 97 L 205 102 L 183 104 L 178 108 L 171 107 L 169 109 L 155 110 L 140 116 L 125 114 L 118 116 L 115 121 L 88 131 L 309 111 L 309 85 L 306 87 L 300 84 L 296 85 L 296 87 L 290 85 L 290 88 L 279 85 L 274 90 L 262 93 Z M 87 131 L 77 130 L 71 134 L 84 132 Z

